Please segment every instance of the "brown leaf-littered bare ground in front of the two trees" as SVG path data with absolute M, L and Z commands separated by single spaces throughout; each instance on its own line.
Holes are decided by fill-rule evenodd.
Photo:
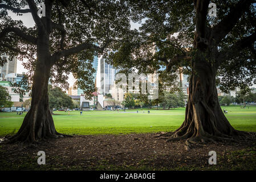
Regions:
M 168 142 L 159 134 L 76 135 L 27 146 L 0 144 L 0 170 L 255 170 L 256 133 L 238 143 Z M 39 165 L 38 151 L 46 154 Z M 209 151 L 217 164 L 210 165 Z

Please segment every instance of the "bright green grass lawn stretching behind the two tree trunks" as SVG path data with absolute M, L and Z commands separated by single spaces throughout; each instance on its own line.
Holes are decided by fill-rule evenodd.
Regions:
M 240 106 L 225 106 L 227 119 L 238 130 L 256 131 L 256 106 L 241 109 Z M 55 111 L 53 115 L 56 130 L 64 134 L 127 134 L 173 131 L 184 121 L 185 108 L 170 110 L 139 109 L 124 111 Z M 0 136 L 17 132 L 23 115 L 0 113 Z

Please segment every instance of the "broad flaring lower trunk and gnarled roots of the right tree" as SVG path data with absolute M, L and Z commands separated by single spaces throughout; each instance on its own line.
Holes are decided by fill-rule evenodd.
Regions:
M 186 139 L 186 144 L 234 140 L 240 132 L 227 121 L 216 89 L 216 65 L 205 54 L 199 54 L 192 61 L 192 75 L 189 80 L 189 98 L 185 121 L 174 132 L 162 134 L 167 141 Z

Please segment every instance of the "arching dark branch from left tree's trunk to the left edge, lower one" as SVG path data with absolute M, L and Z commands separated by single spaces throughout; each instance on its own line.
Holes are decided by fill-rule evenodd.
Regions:
M 19 36 L 23 40 L 26 40 L 27 42 L 30 42 L 32 44 L 36 44 L 36 38 L 34 38 L 34 36 L 25 34 L 25 32 L 23 32 L 18 27 L 7 27 L 7 28 L 4 28 L 2 30 L 2 32 L 0 32 L 0 40 L 2 38 L 4 38 L 5 35 L 8 34 L 9 32 L 14 32 L 17 36 Z

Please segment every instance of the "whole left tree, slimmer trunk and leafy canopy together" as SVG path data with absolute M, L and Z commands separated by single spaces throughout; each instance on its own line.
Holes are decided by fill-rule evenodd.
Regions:
M 17 16 L 30 13 L 35 26 L 26 27 L 7 10 Z M 67 89 L 67 76 L 72 73 L 77 85 L 91 98 L 93 56 L 107 52 L 129 26 L 127 3 L 122 0 L 1 0 L 0 53 L 10 59 L 27 59 L 24 65 L 32 84 L 31 109 L 9 141 L 35 142 L 63 136 L 55 130 L 49 109 L 49 79 L 52 85 Z M 1 65 L 7 56 L 1 57 Z

